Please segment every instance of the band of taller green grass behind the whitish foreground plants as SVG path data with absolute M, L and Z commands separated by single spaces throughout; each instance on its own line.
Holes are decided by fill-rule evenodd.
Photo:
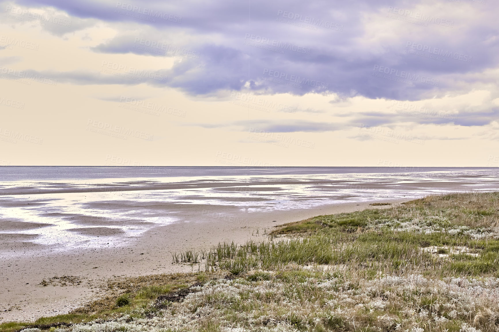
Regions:
M 254 269 L 275 270 L 291 263 L 347 265 L 383 273 L 495 275 L 499 242 L 474 239 L 465 231 L 494 226 L 498 201 L 498 193 L 436 195 L 387 209 L 317 216 L 281 225 L 270 233 L 288 238 L 241 245 L 220 243 L 206 253 L 205 266 L 207 271 L 222 269 L 234 275 Z M 423 230 L 401 230 L 407 227 L 404 223 Z M 423 250 L 430 246 L 439 247 L 437 255 Z M 451 254 L 455 247 L 467 247 L 479 255 Z

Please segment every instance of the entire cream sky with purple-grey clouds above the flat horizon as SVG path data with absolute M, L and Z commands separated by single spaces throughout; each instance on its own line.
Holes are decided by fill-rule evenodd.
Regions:
M 498 12 L 0 1 L 0 165 L 497 167 Z

